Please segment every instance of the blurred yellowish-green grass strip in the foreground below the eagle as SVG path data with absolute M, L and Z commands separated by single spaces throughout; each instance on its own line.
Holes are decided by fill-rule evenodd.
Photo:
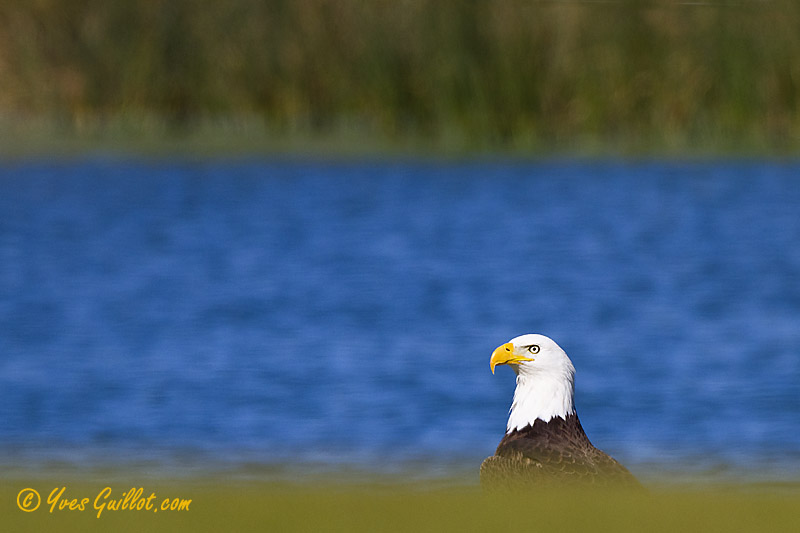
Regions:
M 291 484 L 219 480 L 108 483 L 114 495 L 132 484 L 144 494 L 191 499 L 187 511 L 34 512 L 17 508 L 26 487 L 43 498 L 66 486 L 68 497 L 91 497 L 92 481 L 0 482 L 4 531 L 798 531 L 798 487 L 754 485 L 614 491 L 553 491 L 501 496 L 474 486 Z

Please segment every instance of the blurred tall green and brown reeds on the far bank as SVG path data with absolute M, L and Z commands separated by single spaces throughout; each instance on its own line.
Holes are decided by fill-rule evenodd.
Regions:
M 789 1 L 4 0 L 0 132 L 787 153 L 798 28 Z

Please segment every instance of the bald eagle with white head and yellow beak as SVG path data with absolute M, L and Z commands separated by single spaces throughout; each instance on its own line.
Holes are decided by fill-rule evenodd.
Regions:
M 506 434 L 481 464 L 482 486 L 639 486 L 624 466 L 589 442 L 575 411 L 575 367 L 558 344 L 544 335 L 521 335 L 492 353 L 492 374 L 497 365 L 514 370 L 517 388 Z

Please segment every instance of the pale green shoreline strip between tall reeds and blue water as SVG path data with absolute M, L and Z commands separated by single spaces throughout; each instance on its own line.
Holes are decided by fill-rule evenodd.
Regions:
M 388 138 L 364 131 L 272 132 L 257 120 L 200 121 L 173 129 L 166 120 L 138 124 L 129 119 L 98 120 L 76 130 L 49 119 L 0 120 L 0 160 L 69 159 L 91 155 L 200 159 L 310 157 L 319 159 L 795 159 L 800 149 L 776 149 L 757 141 L 714 140 L 664 143 L 646 139 L 600 141 L 586 138 L 534 146 L 490 146 L 448 138 Z

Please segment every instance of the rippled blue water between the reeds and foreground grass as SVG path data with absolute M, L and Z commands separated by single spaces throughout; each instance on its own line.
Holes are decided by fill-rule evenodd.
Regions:
M 0 167 L 2 464 L 475 472 L 526 332 L 634 472 L 800 477 L 800 165 Z

